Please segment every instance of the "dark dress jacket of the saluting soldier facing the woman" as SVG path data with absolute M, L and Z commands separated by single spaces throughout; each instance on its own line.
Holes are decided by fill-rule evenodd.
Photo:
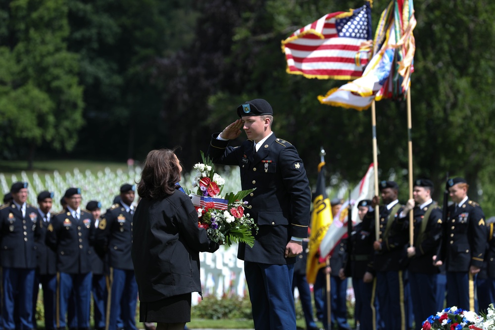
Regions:
M 275 265 L 295 263 L 296 257 L 284 257 L 285 248 L 292 236 L 307 237 L 311 204 L 309 182 L 296 148 L 273 133 L 256 153 L 251 140 L 233 147 L 217 136 L 210 141 L 210 158 L 216 164 L 239 166 L 242 189 L 255 188 L 244 198 L 250 207 L 244 212 L 259 231 L 254 233 L 253 247 L 239 243 L 237 257 Z

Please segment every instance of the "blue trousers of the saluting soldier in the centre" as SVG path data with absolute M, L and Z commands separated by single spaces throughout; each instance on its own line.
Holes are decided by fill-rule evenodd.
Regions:
M 295 330 L 296 308 L 292 295 L 294 264 L 244 262 L 254 329 Z

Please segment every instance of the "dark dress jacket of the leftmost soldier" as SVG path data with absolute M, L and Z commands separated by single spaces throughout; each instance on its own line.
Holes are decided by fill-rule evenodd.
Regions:
M 22 211 L 13 201 L 0 208 L 0 260 L 4 268 L 35 269 L 35 240 L 40 236 L 38 210 L 26 204 Z

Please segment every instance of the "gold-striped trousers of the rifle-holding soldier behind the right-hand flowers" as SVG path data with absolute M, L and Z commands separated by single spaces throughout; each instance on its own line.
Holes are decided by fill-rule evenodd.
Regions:
M 457 306 L 475 311 L 476 275 L 469 272 L 447 272 L 447 307 Z

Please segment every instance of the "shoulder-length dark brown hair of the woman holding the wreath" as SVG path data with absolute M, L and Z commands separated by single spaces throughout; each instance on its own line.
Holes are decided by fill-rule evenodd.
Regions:
M 141 197 L 158 199 L 174 193 L 175 184 L 181 180 L 174 155 L 171 149 L 149 151 L 138 183 Z

